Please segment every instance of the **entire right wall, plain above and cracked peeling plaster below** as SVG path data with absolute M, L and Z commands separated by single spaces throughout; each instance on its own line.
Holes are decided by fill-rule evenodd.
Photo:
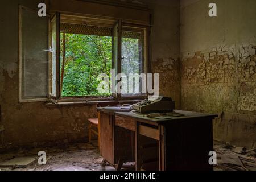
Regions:
M 181 1 L 181 107 L 218 113 L 214 139 L 256 147 L 254 0 Z

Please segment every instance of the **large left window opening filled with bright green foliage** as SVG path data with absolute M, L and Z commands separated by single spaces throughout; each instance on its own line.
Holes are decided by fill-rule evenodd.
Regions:
M 104 95 L 98 93 L 97 77 L 100 73 L 110 76 L 111 64 L 111 36 L 61 33 L 61 96 Z

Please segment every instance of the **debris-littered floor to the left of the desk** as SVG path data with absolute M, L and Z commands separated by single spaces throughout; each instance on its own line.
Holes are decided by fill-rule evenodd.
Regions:
M 46 165 L 36 162 L 26 166 L 0 167 L 0 170 L 15 171 L 98 171 L 114 170 L 112 166 L 101 167 L 102 157 L 97 147 L 89 143 L 76 143 L 72 145 L 57 146 L 51 148 L 34 148 L 33 150 L 20 150 L 0 154 L 0 162 L 8 162 L 11 159 L 24 156 L 39 158 L 38 152 L 46 151 Z

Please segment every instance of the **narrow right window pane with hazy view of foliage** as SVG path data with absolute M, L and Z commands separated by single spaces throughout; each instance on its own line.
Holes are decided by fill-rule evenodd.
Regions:
M 122 95 L 129 96 L 142 93 L 141 73 L 146 73 L 144 63 L 144 31 L 122 31 L 122 73 L 126 75 L 123 79 Z

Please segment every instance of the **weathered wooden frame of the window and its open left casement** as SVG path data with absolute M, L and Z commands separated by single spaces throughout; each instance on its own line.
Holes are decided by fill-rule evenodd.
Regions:
M 48 2 L 48 1 L 47 1 Z M 67 3 L 67 1 L 64 2 L 64 4 Z M 142 98 L 145 98 L 144 96 L 121 96 L 120 94 L 112 94 L 112 96 L 76 96 L 76 97 L 61 97 L 61 90 L 60 90 L 60 19 L 61 16 L 60 15 L 64 15 L 64 14 L 68 14 L 70 16 L 77 16 L 82 18 L 81 20 L 83 20 L 82 24 L 84 24 L 84 22 L 88 23 L 88 18 L 91 19 L 101 19 L 101 20 L 105 20 L 104 25 L 105 24 L 109 24 L 111 22 L 119 22 L 119 27 L 122 27 L 123 24 L 126 25 L 130 25 L 130 26 L 135 26 L 135 27 L 146 27 L 146 54 L 147 54 L 147 60 L 146 61 L 146 67 L 147 67 L 147 73 L 151 73 L 151 43 L 150 43 L 150 37 L 151 37 L 151 25 L 152 25 L 152 12 L 151 10 L 147 9 L 147 7 L 144 8 L 137 8 L 137 5 L 134 5 L 134 8 L 131 7 L 127 7 L 127 5 L 122 5 L 121 8 L 122 9 L 126 9 L 127 12 L 133 12 L 133 13 L 142 13 L 142 18 L 141 17 L 137 17 L 134 16 L 133 13 L 122 13 L 117 11 L 117 14 L 113 14 L 113 13 L 109 13 L 112 11 L 104 11 L 104 13 L 102 13 L 101 11 L 98 11 L 98 6 L 94 5 L 94 1 L 93 3 L 85 3 L 85 2 L 81 2 L 79 3 L 79 1 L 77 1 L 75 7 L 68 7 L 67 10 L 65 9 L 61 9 L 61 7 L 59 7 L 59 4 L 57 3 L 47 3 L 47 12 L 49 12 L 50 14 L 47 13 L 47 16 L 49 16 L 48 18 L 48 43 L 49 43 L 49 48 L 52 44 L 52 31 L 51 31 L 51 18 L 52 15 L 59 15 L 56 16 L 57 18 L 57 23 L 56 23 L 56 81 L 55 82 L 51 82 L 52 80 L 52 73 L 51 73 L 51 69 L 52 69 L 52 52 L 49 51 L 48 52 L 48 97 L 46 96 L 46 98 L 29 98 L 29 99 L 24 99 L 22 98 L 22 53 L 21 53 L 21 48 L 22 48 L 22 37 L 21 37 L 21 31 L 22 31 L 22 8 L 25 9 L 29 9 L 34 11 L 35 13 L 38 13 L 38 10 L 33 10 L 30 9 L 28 7 L 19 5 L 19 26 L 18 26 L 18 31 L 19 31 L 19 39 L 18 39 L 18 46 L 19 46 L 19 53 L 18 53 L 18 69 L 19 69 L 19 92 L 18 92 L 18 100 L 19 102 L 38 102 L 38 101 L 72 101 L 72 102 L 97 102 L 97 101 L 109 101 L 109 100 L 119 100 L 119 101 L 125 101 L 125 100 L 140 100 Z M 90 5 L 90 6 L 87 6 Z M 104 5 L 105 6 L 105 5 Z M 112 6 L 112 4 L 111 4 Z M 87 8 L 89 10 L 88 14 L 84 14 L 86 7 L 94 7 L 96 9 L 96 11 L 92 10 L 92 8 Z M 108 6 L 110 7 L 110 6 Z M 94 9 L 93 8 L 93 9 Z M 110 10 L 112 10 L 114 8 L 113 11 L 115 11 L 115 7 L 111 7 Z M 100 9 L 99 9 L 100 10 Z M 130 11 L 131 10 L 131 11 Z M 137 12 L 138 10 L 138 12 Z M 98 11 L 98 12 L 97 12 Z M 87 11 L 86 11 L 87 12 Z M 95 13 L 95 14 L 94 14 Z M 123 15 L 124 14 L 124 15 Z M 130 14 L 132 14 L 130 16 Z M 67 21 L 70 17 L 67 17 Z M 84 19 L 85 18 L 85 19 Z M 81 21 L 80 21 L 81 22 Z M 89 20 L 90 23 L 90 20 Z M 92 24 L 91 24 L 92 25 Z M 122 29 L 122 28 L 121 28 Z M 120 29 L 120 31 L 122 32 L 122 30 Z M 122 34 L 119 34 L 119 39 L 122 38 Z M 112 40 L 113 40 L 113 35 L 112 35 Z M 112 43 L 113 46 L 113 43 Z M 119 46 L 118 46 L 119 47 Z M 119 51 L 119 55 L 121 55 L 121 47 L 119 47 L 118 49 Z M 113 57 L 113 48 L 112 48 L 112 57 Z M 112 67 L 113 67 L 113 60 L 112 60 Z M 121 60 L 118 61 L 118 69 L 121 70 Z M 52 85 L 54 84 L 56 86 L 56 92 L 55 92 L 55 96 L 52 95 Z M 115 96 L 114 96 L 115 95 Z

